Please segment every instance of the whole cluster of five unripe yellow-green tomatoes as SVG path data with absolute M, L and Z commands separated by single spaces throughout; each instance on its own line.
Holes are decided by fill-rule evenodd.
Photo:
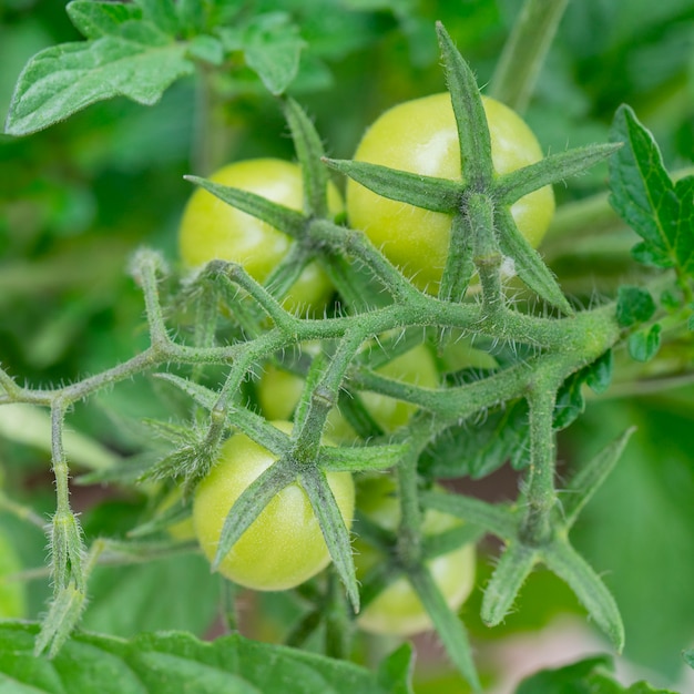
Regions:
M 542 157 L 525 123 L 503 104 L 483 99 L 491 135 L 494 170 L 504 174 Z M 458 131 L 448 94 L 409 101 L 382 114 L 366 132 L 355 160 L 391 169 L 451 180 L 465 178 L 460 165 Z M 463 166 L 465 169 L 465 166 Z M 243 161 L 221 169 L 211 180 L 262 195 L 294 210 L 304 205 L 302 173 L 297 165 L 273 159 Z M 330 184 L 328 207 L 343 213 L 338 190 Z M 451 218 L 378 196 L 349 181 L 346 214 L 353 228 L 361 229 L 384 255 L 422 290 L 436 293 L 446 264 Z M 535 191 L 511 208 L 516 223 L 537 246 L 551 221 L 554 198 L 550 187 Z M 196 191 L 183 216 L 181 257 L 198 267 L 214 258 L 242 264 L 263 283 L 286 255 L 292 239 L 268 224 L 228 206 L 212 194 Z M 285 306 L 308 306 L 323 313 L 334 289 L 317 264 L 306 267 L 293 286 Z M 309 349 L 309 347 L 306 347 Z M 439 376 L 428 349 L 421 345 L 391 360 L 382 372 L 390 378 L 423 387 L 437 387 Z M 268 366 L 259 382 L 259 402 L 267 419 L 290 431 L 290 418 L 303 388 L 296 375 Z M 365 406 L 375 421 L 389 432 L 407 426 L 414 407 L 381 395 L 365 392 Z M 354 442 L 356 433 L 337 410 L 328 419 L 337 443 Z M 193 524 L 203 552 L 212 559 L 224 520 L 243 491 L 275 461 L 274 456 L 244 435 L 231 437 L 217 463 L 197 486 Z M 349 473 L 331 472 L 328 483 L 345 519 L 351 524 L 355 483 Z M 396 532 L 399 503 L 392 479 L 381 474 L 359 480 L 356 504 L 381 528 Z M 429 511 L 423 532 L 438 533 L 459 524 L 448 516 Z M 378 552 L 357 540 L 357 574 L 378 561 Z M 329 554 L 305 491 L 290 484 L 277 494 L 232 548 L 220 571 L 232 581 L 255 590 L 285 590 L 325 569 Z M 452 609 L 471 591 L 474 550 L 465 545 L 436 558 L 429 569 Z M 392 582 L 359 615 L 359 625 L 376 633 L 411 634 L 431 623 L 419 599 L 404 579 Z

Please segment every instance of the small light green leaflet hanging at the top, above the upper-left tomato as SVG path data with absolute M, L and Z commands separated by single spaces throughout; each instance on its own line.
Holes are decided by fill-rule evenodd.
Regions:
M 259 14 L 245 31 L 246 62 L 275 96 L 294 81 L 304 47 L 298 27 L 285 12 Z

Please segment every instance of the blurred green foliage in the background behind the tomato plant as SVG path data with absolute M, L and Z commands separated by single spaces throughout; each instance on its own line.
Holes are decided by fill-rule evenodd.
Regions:
M 315 116 L 329 153 L 338 157 L 351 155 L 364 129 L 384 109 L 445 89 L 435 20 L 443 21 L 483 88 L 520 7 L 519 0 L 243 4 L 257 13 L 282 10 L 299 27 L 305 48 L 290 91 Z M 13 84 L 31 55 L 80 39 L 63 2 L 3 0 L 0 114 L 7 113 Z M 692 165 L 691 0 L 569 3 L 528 121 L 543 149 L 557 152 L 605 141 L 613 112 L 623 102 L 653 131 L 669 170 Z M 211 157 L 212 121 L 222 124 L 217 132 L 223 139 Z M 182 176 L 205 175 L 206 169 L 243 157 L 293 155 L 276 102 L 243 64 L 231 65 L 212 83 L 205 74 L 182 80 L 150 109 L 115 99 L 29 137 L 0 135 L 0 361 L 20 381 L 48 386 L 135 354 L 145 345 L 146 331 L 140 294 L 124 268 L 143 244 L 162 249 L 176 266 L 176 226 L 191 193 Z M 558 187 L 558 201 L 580 203 L 604 193 L 605 182 L 606 166 L 595 167 Z M 573 254 L 559 232 L 549 235 L 545 253 L 580 300 L 609 294 L 615 277 L 627 279 L 637 272 L 624 259 L 635 236 L 609 211 L 600 226 L 573 234 Z M 611 254 L 615 248 L 621 259 Z M 688 341 L 676 357 L 666 376 L 686 380 L 693 369 Z M 608 572 L 605 581 L 626 624 L 626 656 L 662 682 L 672 682 L 682 670 L 681 651 L 694 641 L 694 390 L 686 384 L 659 390 L 649 381 L 654 391 L 649 394 L 642 376 L 624 376 L 615 390 L 620 397 L 608 392 L 602 401 L 590 401 L 586 416 L 562 435 L 560 451 L 569 467 L 630 423 L 639 426 L 618 470 L 584 513 L 575 540 L 598 571 Z M 70 423 L 110 455 L 125 456 L 137 450 L 137 439 L 127 426 L 119 426 L 120 417 L 165 412 L 167 395 L 145 380 L 123 384 L 79 407 Z M 52 503 L 47 443 L 48 430 L 29 443 L 18 441 L 8 427 L 0 433 L 6 493 L 42 514 Z M 508 484 L 502 476 L 494 480 L 499 487 L 491 496 Z M 88 534 L 124 532 L 147 503 L 125 490 L 108 496 L 88 491 Z M 74 493 L 79 506 L 81 492 Z M 17 565 L 42 567 L 45 541 L 39 530 L 3 514 L 0 531 L 0 573 Z M 480 572 L 489 573 L 488 567 Z M 166 580 L 171 575 L 176 579 Z M 210 590 L 201 589 L 207 584 Z M 28 602 L 24 594 L 3 601 L 2 591 L 0 613 L 4 609 L 6 614 L 14 610 L 35 616 L 43 608 L 47 581 L 29 583 Z M 204 634 L 215 599 L 216 580 L 190 555 L 103 570 L 94 580 L 84 625 L 123 635 L 164 627 Z M 268 599 L 267 611 L 283 613 L 277 600 L 283 599 Z M 296 608 L 287 604 L 286 610 Z M 569 591 L 555 580 L 548 583 L 542 572 L 531 579 L 518 613 L 503 627 L 489 631 L 476 624 L 474 604 L 465 610 L 480 644 L 540 629 L 561 612 L 580 612 Z M 272 633 L 267 624 L 254 629 Z M 440 677 L 437 682 L 442 686 Z M 421 686 L 423 692 L 433 685 Z

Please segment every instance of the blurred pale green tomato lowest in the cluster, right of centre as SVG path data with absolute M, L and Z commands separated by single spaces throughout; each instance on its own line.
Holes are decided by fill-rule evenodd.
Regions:
M 400 522 L 400 504 L 395 483 L 389 477 L 370 478 L 359 487 L 359 510 L 382 528 L 396 531 Z M 428 510 L 425 512 L 425 535 L 438 534 L 461 525 L 453 516 Z M 427 562 L 435 583 L 443 594 L 448 606 L 457 611 L 467 600 L 474 585 L 474 545 L 465 544 L 452 552 L 441 554 Z M 384 561 L 374 547 L 358 540 L 355 542 L 357 579 Z M 358 626 L 372 634 L 411 636 L 433 627 L 431 618 L 419 596 L 405 576 L 397 578 L 361 610 Z

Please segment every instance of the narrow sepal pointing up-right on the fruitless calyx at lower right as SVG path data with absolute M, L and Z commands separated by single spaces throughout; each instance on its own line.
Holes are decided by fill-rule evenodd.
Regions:
M 621 458 L 635 427 L 624 431 L 605 446 L 589 462 L 579 467 L 575 474 L 559 490 L 561 516 L 567 529 L 575 522 L 579 513 L 612 471 Z

